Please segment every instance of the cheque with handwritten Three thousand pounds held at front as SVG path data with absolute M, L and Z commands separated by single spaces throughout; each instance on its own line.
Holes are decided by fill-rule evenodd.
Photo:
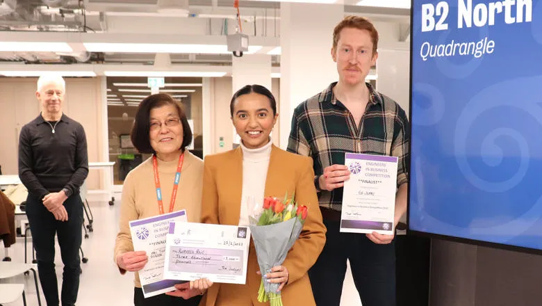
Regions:
M 165 246 L 164 275 L 170 280 L 245 284 L 249 227 L 172 223 Z

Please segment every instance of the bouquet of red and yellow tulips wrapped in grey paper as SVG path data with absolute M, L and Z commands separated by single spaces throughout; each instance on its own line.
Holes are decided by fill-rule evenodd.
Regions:
M 301 234 L 308 214 L 307 207 L 298 205 L 293 196 L 284 200 L 267 197 L 263 207 L 249 217 L 250 232 L 256 248 L 256 257 L 261 275 L 274 266 L 280 266 L 288 251 Z M 262 277 L 258 291 L 258 302 L 270 302 L 270 306 L 282 306 L 280 284 L 265 282 Z

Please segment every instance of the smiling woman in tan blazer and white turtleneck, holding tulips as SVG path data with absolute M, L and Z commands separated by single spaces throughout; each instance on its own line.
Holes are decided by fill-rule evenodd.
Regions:
M 277 104 L 265 87 L 241 88 L 231 99 L 230 111 L 241 143 L 235 150 L 205 158 L 202 223 L 248 225 L 247 198 L 254 197 L 262 204 L 264 197 L 295 193 L 295 200 L 309 207 L 309 216 L 284 264 L 272 268 L 265 277 L 281 284 L 285 306 L 315 305 L 307 271 L 324 247 L 326 229 L 313 183 L 312 159 L 272 144 L 270 133 L 277 122 Z M 257 301 L 261 282 L 258 270 L 251 241 L 246 284 L 197 280 L 195 288 L 208 289 L 200 305 L 265 305 Z

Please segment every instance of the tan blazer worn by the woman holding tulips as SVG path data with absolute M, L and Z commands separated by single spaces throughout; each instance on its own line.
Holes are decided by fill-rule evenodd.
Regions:
M 313 182 L 314 172 L 310 157 L 292 154 L 272 146 L 264 196 L 279 198 L 284 197 L 286 192 L 288 195 L 295 192 L 295 200 L 309 207 L 309 216 L 303 231 L 283 264 L 290 274 L 288 284 L 281 293 L 284 306 L 315 305 L 307 271 L 324 248 L 326 228 L 322 223 Z M 238 225 L 242 189 L 243 151 L 240 147 L 222 154 L 206 156 L 202 223 Z M 261 282 L 261 276 L 256 275 L 258 270 L 256 251 L 251 241 L 247 284 L 213 284 L 200 305 L 263 305 L 256 300 Z

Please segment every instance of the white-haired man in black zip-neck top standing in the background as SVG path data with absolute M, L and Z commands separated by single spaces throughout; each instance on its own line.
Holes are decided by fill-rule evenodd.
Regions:
M 48 306 L 59 305 L 55 234 L 64 264 L 62 305 L 75 305 L 81 273 L 79 188 L 88 175 L 87 141 L 83 126 L 62 112 L 64 94 L 62 77 L 40 77 L 35 95 L 42 111 L 19 137 L 19 177 L 28 189 L 26 215 Z

